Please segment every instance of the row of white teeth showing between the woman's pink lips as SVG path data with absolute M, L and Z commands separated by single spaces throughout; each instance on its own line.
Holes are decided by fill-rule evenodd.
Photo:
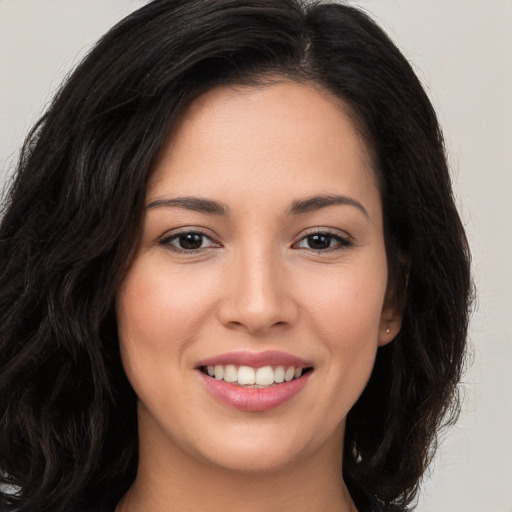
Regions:
M 244 388 L 269 388 L 300 379 L 311 373 L 313 367 L 295 366 L 237 366 L 234 364 L 217 364 L 215 366 L 201 366 L 199 370 L 212 379 L 228 382 Z

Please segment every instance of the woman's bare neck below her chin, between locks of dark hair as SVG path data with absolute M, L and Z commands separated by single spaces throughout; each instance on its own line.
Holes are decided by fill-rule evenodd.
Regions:
M 286 467 L 251 473 L 141 440 L 137 477 L 116 512 L 357 512 L 341 475 L 342 443 L 334 444 Z

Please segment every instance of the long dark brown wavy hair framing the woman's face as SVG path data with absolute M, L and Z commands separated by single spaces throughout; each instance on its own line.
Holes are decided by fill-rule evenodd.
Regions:
M 401 332 L 350 411 L 354 495 L 405 507 L 459 410 L 469 251 L 443 137 L 411 66 L 348 5 L 155 0 L 113 27 L 31 131 L 0 226 L 0 503 L 112 506 L 138 459 L 136 396 L 114 301 L 137 246 L 156 156 L 212 87 L 291 79 L 351 112 L 380 183 Z

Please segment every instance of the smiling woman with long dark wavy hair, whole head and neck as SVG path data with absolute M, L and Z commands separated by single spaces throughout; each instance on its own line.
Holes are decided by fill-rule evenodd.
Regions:
M 7 510 L 405 510 L 457 415 L 442 135 L 349 6 L 128 16 L 29 136 L 0 240 Z

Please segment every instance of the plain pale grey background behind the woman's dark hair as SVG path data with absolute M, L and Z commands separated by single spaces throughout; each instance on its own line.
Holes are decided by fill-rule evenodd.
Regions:
M 354 0 L 404 51 L 444 126 L 479 306 L 460 422 L 418 512 L 512 511 L 512 0 Z M 0 187 L 55 87 L 142 0 L 0 0 Z

